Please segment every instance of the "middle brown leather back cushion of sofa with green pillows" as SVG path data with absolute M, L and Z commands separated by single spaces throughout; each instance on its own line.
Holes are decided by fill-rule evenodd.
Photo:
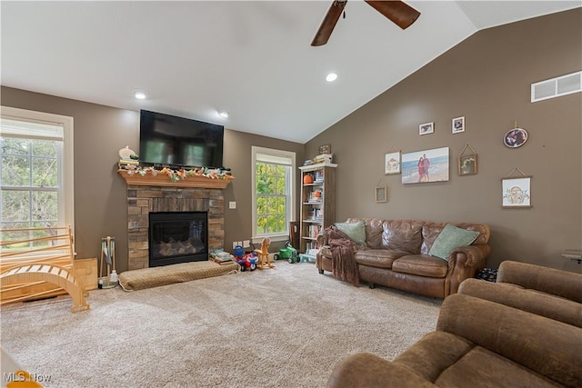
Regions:
M 422 224 L 416 221 L 392 220 L 382 224 L 382 247 L 408 254 L 419 254 Z

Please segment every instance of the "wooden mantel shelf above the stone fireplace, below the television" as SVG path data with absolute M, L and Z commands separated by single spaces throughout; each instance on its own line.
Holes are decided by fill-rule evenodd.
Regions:
M 125 180 L 125 184 L 135 185 L 135 186 L 162 186 L 162 187 L 190 187 L 190 188 L 203 188 L 203 189 L 226 189 L 226 186 L 230 184 L 234 178 L 228 179 L 213 179 L 206 176 L 190 175 L 186 176 L 184 179 L 172 182 L 167 174 L 158 173 L 153 175 L 147 173 L 145 175 L 141 174 L 128 174 L 127 170 L 119 169 L 117 174 L 120 174 Z

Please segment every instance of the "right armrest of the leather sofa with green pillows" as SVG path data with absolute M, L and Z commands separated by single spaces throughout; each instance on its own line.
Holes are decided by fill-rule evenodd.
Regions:
M 488 244 L 459 246 L 451 252 L 448 260 L 447 294 L 457 293 L 458 286 L 465 279 L 475 277 L 477 271 L 485 268 L 487 256 L 491 252 Z

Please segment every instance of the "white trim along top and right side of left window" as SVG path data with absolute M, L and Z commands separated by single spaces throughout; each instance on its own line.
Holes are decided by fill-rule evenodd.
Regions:
M 70 226 L 75 231 L 75 182 L 73 167 L 73 117 L 26 109 L 0 106 L 2 118 L 63 127 L 62 184 L 58 190 L 58 226 Z M 0 129 L 0 134 L 2 130 Z

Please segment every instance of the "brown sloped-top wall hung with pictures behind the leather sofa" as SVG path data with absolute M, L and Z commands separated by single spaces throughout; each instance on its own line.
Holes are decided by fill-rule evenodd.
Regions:
M 336 217 L 482 222 L 491 226 L 487 265 L 504 259 L 580 271 L 561 257 L 582 247 L 581 94 L 530 103 L 530 85 L 582 68 L 582 9 L 478 32 L 306 144 L 306 155 L 331 144 Z M 451 134 L 451 119 L 467 130 Z M 435 133 L 418 135 L 418 124 Z M 527 144 L 507 148 L 503 136 L 525 128 Z M 466 144 L 478 174 L 457 175 Z M 384 174 L 391 146 L 403 153 L 450 147 L 450 180 L 402 184 Z M 530 209 L 501 208 L 501 179 L 514 168 L 531 175 Z M 376 204 L 375 187 L 389 200 Z

